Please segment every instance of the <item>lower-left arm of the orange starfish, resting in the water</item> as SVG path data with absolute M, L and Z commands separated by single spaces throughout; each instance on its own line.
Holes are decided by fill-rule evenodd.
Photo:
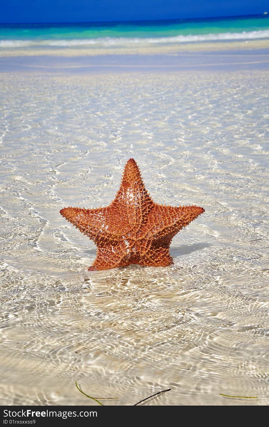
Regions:
M 129 264 L 129 258 L 119 248 L 105 246 L 98 248 L 97 257 L 93 265 L 88 267 L 88 270 L 108 270 L 115 267 L 127 266 Z

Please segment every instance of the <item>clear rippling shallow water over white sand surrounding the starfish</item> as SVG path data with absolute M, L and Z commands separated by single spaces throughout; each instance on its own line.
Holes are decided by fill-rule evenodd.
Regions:
M 97 404 L 77 381 L 104 405 L 268 405 L 268 72 L 3 73 L 0 93 L 1 404 Z M 88 272 L 59 209 L 109 204 L 130 157 L 155 202 L 205 213 L 173 266 Z

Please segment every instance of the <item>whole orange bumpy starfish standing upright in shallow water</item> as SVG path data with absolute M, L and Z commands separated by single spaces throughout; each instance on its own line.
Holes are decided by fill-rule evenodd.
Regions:
M 204 212 L 199 206 L 158 205 L 142 181 L 131 158 L 125 165 L 121 186 L 106 208 L 63 208 L 60 213 L 97 245 L 89 271 L 119 266 L 168 266 L 172 238 Z

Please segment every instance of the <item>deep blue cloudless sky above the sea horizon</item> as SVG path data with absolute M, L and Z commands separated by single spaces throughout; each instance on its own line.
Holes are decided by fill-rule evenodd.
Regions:
M 268 0 L 4 0 L 0 23 L 102 22 L 255 15 Z

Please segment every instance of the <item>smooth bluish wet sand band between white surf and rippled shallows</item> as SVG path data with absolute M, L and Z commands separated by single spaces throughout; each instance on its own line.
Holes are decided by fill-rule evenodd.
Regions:
M 202 47 L 203 46 L 203 47 Z M 0 57 L 0 72 L 33 72 L 33 73 L 126 73 L 126 72 L 175 72 L 175 71 L 243 71 L 243 70 L 268 70 L 269 46 L 259 48 L 230 49 L 226 44 L 217 44 L 218 50 L 206 49 L 200 45 L 199 51 L 173 51 L 156 54 L 117 53 L 116 49 L 109 54 L 106 50 L 30 50 L 32 55 L 24 55 L 25 50 L 17 55 L 9 56 L 13 52 L 2 51 Z M 222 48 L 220 48 L 222 47 Z M 225 49 L 226 47 L 226 49 Z M 193 48 L 193 47 L 192 47 Z M 216 47 L 215 47 L 216 49 Z M 16 52 L 16 50 L 15 50 Z M 37 52 L 39 54 L 37 54 Z M 59 55 L 55 56 L 56 53 Z M 89 53 L 90 52 L 90 53 Z M 154 50 L 153 50 L 154 52 Z M 75 54 L 73 54 L 75 53 Z M 80 53 L 80 55 L 78 55 Z M 93 54 L 95 53 L 95 54 Z

